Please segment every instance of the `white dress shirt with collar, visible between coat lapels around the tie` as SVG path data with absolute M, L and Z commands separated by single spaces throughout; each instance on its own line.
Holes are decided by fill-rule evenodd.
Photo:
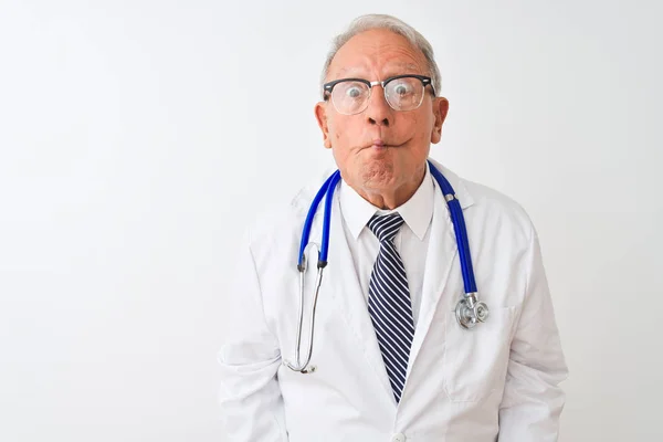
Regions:
M 431 232 L 429 227 L 433 218 L 434 191 L 433 177 L 428 164 L 423 181 L 414 194 L 407 202 L 392 210 L 382 210 L 371 204 L 343 180 L 338 189 L 343 227 L 367 305 L 368 285 L 373 264 L 380 252 L 380 242 L 366 224 L 373 214 L 385 215 L 398 212 L 403 218 L 404 223 L 393 239 L 393 243 L 406 267 L 414 326 L 417 326 L 421 306 L 423 272 Z

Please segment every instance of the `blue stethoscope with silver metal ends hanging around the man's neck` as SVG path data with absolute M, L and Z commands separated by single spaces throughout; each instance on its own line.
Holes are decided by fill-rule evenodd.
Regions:
M 465 228 L 465 218 L 463 217 L 463 210 L 461 203 L 455 196 L 455 192 L 446 178 L 433 166 L 429 160 L 431 173 L 442 193 L 446 200 L 449 212 L 451 213 L 451 221 L 453 223 L 456 243 L 459 246 L 459 260 L 461 261 L 461 271 L 463 273 L 463 284 L 465 293 L 459 301 L 455 307 L 455 316 L 461 325 L 465 329 L 471 329 L 478 323 L 484 323 L 488 317 L 488 307 L 485 303 L 478 302 L 476 293 L 476 282 L 474 281 L 474 271 L 472 269 L 472 259 L 470 256 L 470 243 L 467 242 L 467 230 Z M 297 324 L 297 344 L 295 347 L 295 360 L 296 365 L 288 361 L 284 361 L 290 369 L 299 371 L 302 373 L 309 373 L 315 371 L 315 367 L 308 367 L 311 362 L 311 355 L 313 354 L 313 333 L 315 329 L 315 309 L 317 306 L 318 294 L 320 292 L 320 284 L 323 282 L 323 270 L 327 266 L 327 252 L 329 250 L 329 224 L 332 220 L 332 201 L 334 198 L 334 190 L 336 185 L 340 180 L 340 171 L 336 170 L 323 185 L 320 190 L 313 199 L 306 221 L 304 222 L 304 230 L 302 231 L 302 242 L 299 244 L 299 257 L 297 261 L 297 270 L 299 271 L 299 322 Z M 313 218 L 317 211 L 317 208 L 323 199 L 325 198 L 325 215 L 323 219 L 323 242 L 318 251 L 318 263 L 317 263 L 317 277 L 315 282 L 315 292 L 313 297 L 313 306 L 311 312 L 311 332 L 308 339 L 308 351 L 306 354 L 306 360 L 304 364 L 301 362 L 299 352 L 302 347 L 302 325 L 304 323 L 304 278 L 306 274 L 306 251 L 309 245 L 315 245 L 308 242 L 311 235 L 311 227 L 313 225 Z

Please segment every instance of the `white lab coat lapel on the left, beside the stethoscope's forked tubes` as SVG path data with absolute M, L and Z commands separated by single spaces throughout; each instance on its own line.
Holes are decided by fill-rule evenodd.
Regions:
M 318 229 L 316 235 L 320 235 L 323 230 L 322 210 L 318 222 L 315 225 Z M 343 322 L 347 325 L 348 333 L 352 335 L 357 346 L 361 349 L 360 352 L 368 359 L 369 366 L 375 370 L 388 398 L 393 400 L 393 392 L 389 383 L 382 354 L 380 352 L 376 332 L 368 314 L 368 306 L 361 293 L 361 285 L 359 284 L 352 255 L 344 232 L 338 189 L 334 193 L 329 239 L 328 265 L 325 269 L 320 293 L 324 291 L 334 298 L 334 304 Z

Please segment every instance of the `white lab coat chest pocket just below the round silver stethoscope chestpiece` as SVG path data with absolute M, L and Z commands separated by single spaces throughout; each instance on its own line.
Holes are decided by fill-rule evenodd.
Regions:
M 485 323 L 464 329 L 446 315 L 442 372 L 449 399 L 477 402 L 504 388 L 515 307 L 493 308 Z

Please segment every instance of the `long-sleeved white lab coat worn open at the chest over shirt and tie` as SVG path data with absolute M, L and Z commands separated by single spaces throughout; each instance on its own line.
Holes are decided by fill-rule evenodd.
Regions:
M 503 194 L 434 162 L 455 189 L 467 227 L 480 298 L 490 317 L 460 327 L 463 293 L 449 209 L 435 182 L 421 313 L 407 382 L 396 404 L 339 213 L 332 212 L 329 264 L 317 307 L 312 365 L 293 360 L 302 225 L 325 177 L 248 233 L 228 296 L 231 335 L 219 352 L 222 419 L 233 441 L 556 441 L 567 376 L 536 232 Z M 328 176 L 328 175 L 327 175 Z M 323 206 L 311 241 L 319 243 Z M 307 348 L 315 266 L 307 273 Z M 304 350 L 305 351 L 305 350 Z

